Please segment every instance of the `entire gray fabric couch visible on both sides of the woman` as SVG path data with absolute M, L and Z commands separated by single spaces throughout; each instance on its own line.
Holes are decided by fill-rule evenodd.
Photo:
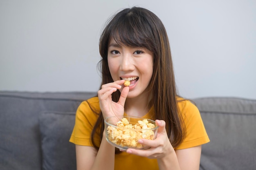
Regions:
M 79 104 L 96 93 L 0 91 L 0 170 L 75 170 L 68 140 Z M 211 142 L 200 170 L 256 169 L 256 100 L 193 99 Z

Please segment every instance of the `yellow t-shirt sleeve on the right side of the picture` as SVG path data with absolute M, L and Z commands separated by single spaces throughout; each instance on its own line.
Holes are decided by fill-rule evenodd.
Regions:
M 210 140 L 198 108 L 189 100 L 179 102 L 178 106 L 186 127 L 186 137 L 175 149 L 191 148 L 208 143 Z

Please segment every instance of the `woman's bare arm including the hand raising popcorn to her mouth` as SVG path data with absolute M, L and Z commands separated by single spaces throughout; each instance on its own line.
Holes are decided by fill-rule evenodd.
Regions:
M 118 102 L 112 101 L 112 93 L 121 88 L 124 80 L 103 84 L 98 91 L 99 105 L 104 119 L 109 116 L 124 115 L 124 104 L 129 87 L 124 87 Z M 77 170 L 114 170 L 115 147 L 106 140 L 105 131 L 99 151 L 92 146 L 76 145 Z

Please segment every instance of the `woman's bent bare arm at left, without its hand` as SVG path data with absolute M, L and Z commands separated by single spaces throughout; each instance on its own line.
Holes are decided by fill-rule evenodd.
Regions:
M 99 151 L 92 146 L 76 145 L 77 170 L 114 170 L 115 147 L 111 146 L 103 132 Z

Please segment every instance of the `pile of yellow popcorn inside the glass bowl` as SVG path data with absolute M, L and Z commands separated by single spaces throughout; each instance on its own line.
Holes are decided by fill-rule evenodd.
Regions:
M 122 147 L 142 148 L 142 144 L 138 143 L 139 139 L 153 140 L 154 138 L 154 131 L 148 129 L 155 128 L 155 125 L 148 123 L 147 119 L 132 125 L 126 118 L 122 118 L 121 121 L 117 122 L 117 127 L 107 127 L 108 140 Z

